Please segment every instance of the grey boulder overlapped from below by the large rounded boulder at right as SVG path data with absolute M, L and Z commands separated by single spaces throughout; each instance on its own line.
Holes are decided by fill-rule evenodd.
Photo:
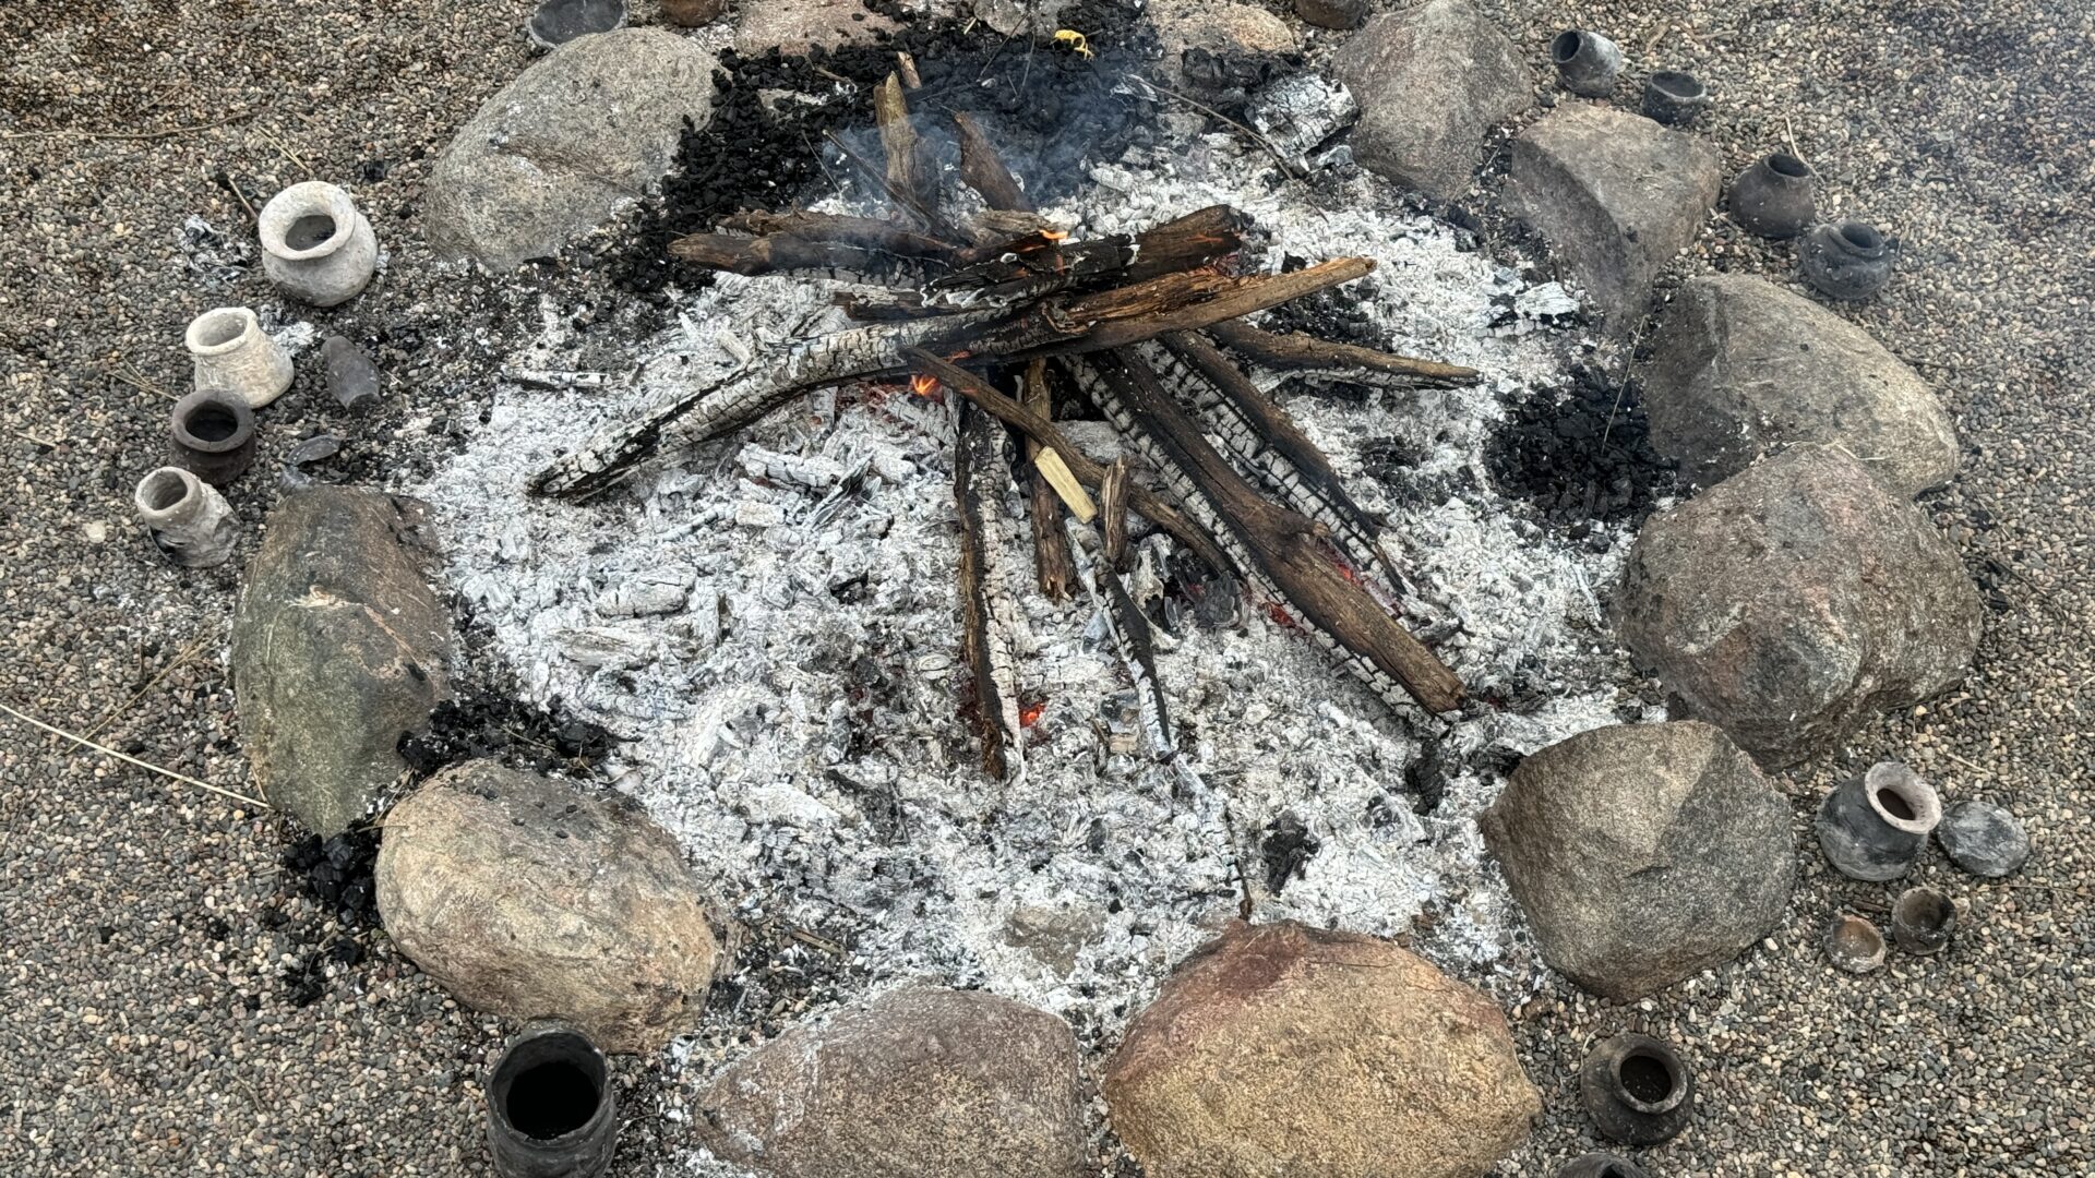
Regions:
M 1651 444 L 1703 484 L 1795 442 L 1839 442 L 1906 497 L 1957 474 L 1957 432 L 1919 373 L 1766 279 L 1680 287 L 1651 340 L 1645 411 Z

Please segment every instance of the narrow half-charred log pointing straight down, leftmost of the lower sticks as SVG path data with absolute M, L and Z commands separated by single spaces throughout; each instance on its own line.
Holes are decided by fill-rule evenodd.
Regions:
M 953 501 L 960 509 L 960 648 L 974 683 L 974 729 L 983 742 L 983 771 L 1006 780 L 1024 767 L 1024 727 L 1018 719 L 1018 660 L 1010 633 L 1016 616 L 991 562 L 1004 551 L 999 472 L 1004 428 L 974 405 L 960 407 L 960 446 L 953 455 Z

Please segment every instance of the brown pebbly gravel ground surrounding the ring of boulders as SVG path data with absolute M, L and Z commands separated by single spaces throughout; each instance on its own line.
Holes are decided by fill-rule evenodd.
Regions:
M 362 478 L 411 474 L 478 415 L 473 375 L 541 296 L 605 321 L 585 247 L 503 283 L 436 268 L 419 243 L 429 159 L 526 63 L 528 4 L 373 0 L 57 4 L 0 31 L 0 702 L 182 773 L 243 788 L 222 669 L 237 570 L 297 438 L 350 438 Z M 1508 1172 L 1586 1147 L 1573 1069 L 1640 1027 L 1699 1065 L 1697 1124 L 1657 1174 L 2087 1174 L 2095 1082 L 2089 750 L 2095 706 L 2095 17 L 2038 0 L 1490 0 L 1538 65 L 1559 27 L 1609 31 L 1636 67 L 1718 92 L 1726 163 L 1793 138 L 1825 208 L 1875 220 L 1902 272 L 1854 312 L 1929 375 L 1969 451 L 1929 507 L 1994 604 L 1950 698 L 1787 778 L 1800 845 L 1844 771 L 1906 757 L 1948 799 L 2030 824 L 2009 882 L 1917 872 L 1965 906 L 1938 958 L 1850 979 L 1818 954 L 1839 908 L 1892 889 L 1806 853 L 1789 924 L 1741 962 L 1624 1008 L 1569 985 L 1517 1012 L 1548 1117 Z M 641 19 L 649 6 L 641 4 Z M 1540 71 L 1538 71 L 1540 73 Z M 119 134 L 109 134 L 119 132 Z M 247 302 L 260 272 L 210 275 L 249 212 L 316 176 L 356 189 L 388 270 L 312 317 L 375 346 L 388 407 L 348 419 L 302 375 L 262 415 L 266 453 L 233 495 L 235 564 L 161 564 L 130 488 L 161 459 L 186 388 L 182 325 Z M 199 216 L 224 241 L 180 243 Z M 1684 270 L 1785 272 L 1712 220 Z M 216 285 L 214 285 L 216 283 Z M 306 365 L 312 367 L 312 365 Z M 467 392 L 453 392 L 467 390 Z M 333 926 L 279 868 L 289 824 L 86 757 L 0 719 L 0 1168 L 8 1174 L 461 1174 L 484 1170 L 476 1075 L 505 1027 L 459 1010 L 383 937 Z M 360 960 L 346 962 L 339 958 Z M 656 1065 L 620 1067 L 654 1105 Z M 618 1174 L 668 1157 L 635 1121 Z

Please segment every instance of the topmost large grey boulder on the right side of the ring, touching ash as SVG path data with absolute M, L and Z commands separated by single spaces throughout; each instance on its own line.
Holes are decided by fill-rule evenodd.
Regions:
M 1443 201 L 1469 189 L 1483 136 L 1536 96 L 1521 50 L 1469 0 L 1374 17 L 1330 65 L 1360 101 L 1355 159 Z

